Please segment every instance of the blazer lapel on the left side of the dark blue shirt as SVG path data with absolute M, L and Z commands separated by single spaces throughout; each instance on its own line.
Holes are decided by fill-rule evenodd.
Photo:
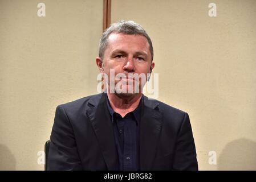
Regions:
M 95 130 L 107 168 L 108 170 L 116 170 L 116 167 L 118 166 L 118 158 L 115 147 L 113 125 L 109 117 L 106 103 L 106 94 L 101 93 L 92 97 L 89 104 L 91 107 L 87 110 L 87 116 Z

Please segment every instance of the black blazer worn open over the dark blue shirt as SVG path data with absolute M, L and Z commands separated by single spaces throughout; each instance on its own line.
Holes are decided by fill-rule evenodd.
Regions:
M 48 170 L 116 170 L 118 156 L 107 94 L 56 108 Z M 143 95 L 141 170 L 198 170 L 189 115 Z

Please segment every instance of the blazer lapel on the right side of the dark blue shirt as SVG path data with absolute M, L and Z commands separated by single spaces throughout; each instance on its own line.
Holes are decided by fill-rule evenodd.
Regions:
M 140 121 L 140 169 L 151 170 L 156 156 L 157 140 L 162 127 L 159 103 L 143 96 L 144 105 Z

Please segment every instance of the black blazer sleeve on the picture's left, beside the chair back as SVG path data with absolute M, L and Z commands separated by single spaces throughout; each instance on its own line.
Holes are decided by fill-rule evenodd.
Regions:
M 47 170 L 82 170 L 72 125 L 62 105 L 56 108 Z

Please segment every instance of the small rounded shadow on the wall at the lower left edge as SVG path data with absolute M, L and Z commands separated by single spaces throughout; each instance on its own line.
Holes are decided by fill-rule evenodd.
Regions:
M 16 166 L 16 160 L 8 147 L 0 144 L 0 170 L 14 171 Z

